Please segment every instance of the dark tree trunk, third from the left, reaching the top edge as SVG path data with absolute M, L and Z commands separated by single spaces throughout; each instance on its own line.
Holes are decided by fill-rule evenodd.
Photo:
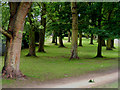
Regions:
M 44 51 L 45 29 L 46 29 L 46 17 L 44 17 L 45 15 L 46 15 L 46 4 L 42 3 L 41 24 L 44 28 L 40 30 L 38 52 L 45 52 Z

